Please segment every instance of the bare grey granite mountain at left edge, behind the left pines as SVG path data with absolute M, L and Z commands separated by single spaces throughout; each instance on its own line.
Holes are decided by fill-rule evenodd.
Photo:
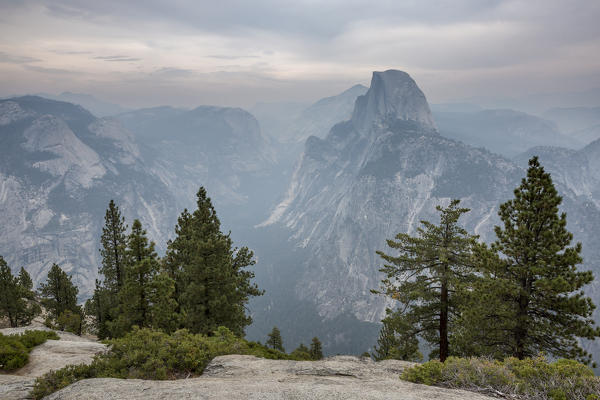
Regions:
M 0 254 L 9 265 L 25 266 L 38 284 L 56 262 L 80 296 L 89 296 L 110 199 L 164 246 L 174 199 L 148 173 L 131 133 L 70 103 L 0 101 L 0 225 L 8 227 L 0 231 Z

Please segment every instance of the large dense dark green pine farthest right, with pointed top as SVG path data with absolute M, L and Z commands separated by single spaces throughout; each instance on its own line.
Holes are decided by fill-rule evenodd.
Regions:
M 495 339 L 478 338 L 482 352 L 519 359 L 546 352 L 589 362 L 578 338 L 600 336 L 592 320 L 594 304 L 582 290 L 593 275 L 577 269 L 581 244 L 569 247 L 573 235 L 566 229 L 566 214 L 559 214 L 562 199 L 537 157 L 529 160 L 527 177 L 514 195 L 500 206 L 503 226 L 495 227 L 492 246 L 499 257 L 488 263 L 478 290 L 496 298 L 473 318 L 474 329 Z

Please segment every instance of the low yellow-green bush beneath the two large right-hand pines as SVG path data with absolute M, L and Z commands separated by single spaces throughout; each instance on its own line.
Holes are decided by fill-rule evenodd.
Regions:
M 600 378 L 577 361 L 549 363 L 545 357 L 503 362 L 449 357 L 405 370 L 402 379 L 427 385 L 460 388 L 494 395 L 540 400 L 600 400 Z

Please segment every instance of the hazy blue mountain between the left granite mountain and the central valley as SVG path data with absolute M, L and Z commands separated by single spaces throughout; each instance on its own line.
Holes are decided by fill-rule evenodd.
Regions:
M 252 226 L 285 186 L 270 139 L 240 108 L 156 107 L 116 118 L 133 133 L 149 171 L 179 208 L 192 207 L 203 185 L 226 222 L 241 218 Z

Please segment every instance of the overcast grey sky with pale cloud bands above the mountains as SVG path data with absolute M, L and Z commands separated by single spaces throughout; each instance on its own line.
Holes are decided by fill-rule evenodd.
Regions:
M 250 107 L 386 69 L 437 103 L 586 91 L 598 21 L 598 0 L 0 0 L 0 96 Z

